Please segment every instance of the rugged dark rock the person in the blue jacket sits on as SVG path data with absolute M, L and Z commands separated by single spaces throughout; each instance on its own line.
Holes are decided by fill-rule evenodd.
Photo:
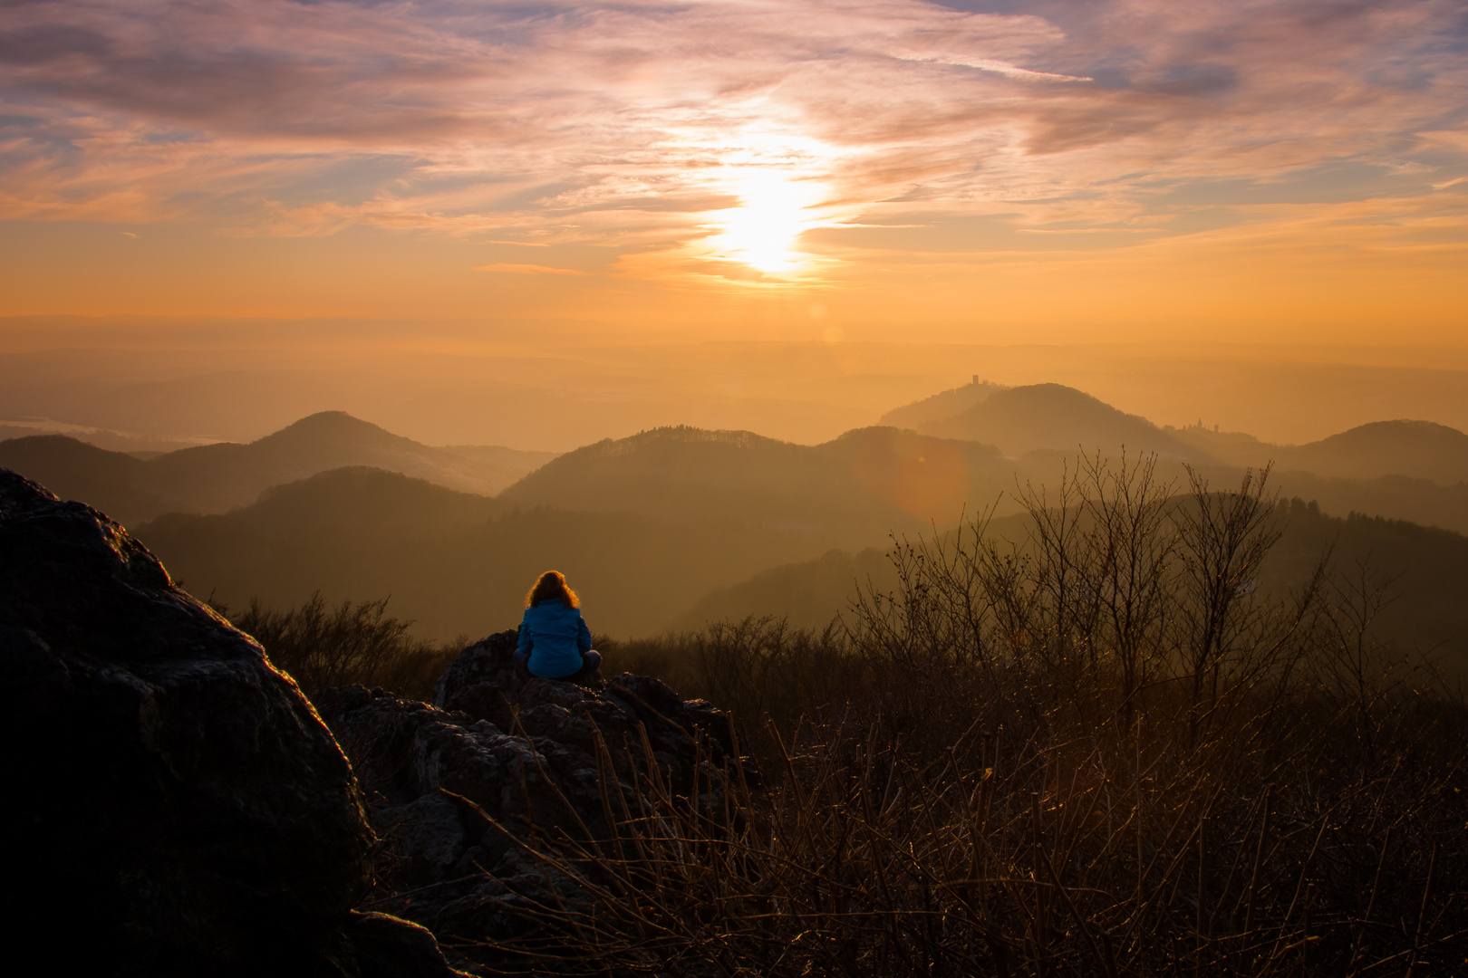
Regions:
M 511 630 L 464 650 L 432 705 L 361 686 L 317 696 L 385 840 L 377 906 L 464 947 L 523 931 L 534 902 L 577 903 L 581 884 L 534 852 L 605 840 L 608 808 L 636 808 L 639 783 L 721 808 L 733 748 L 725 714 L 656 679 L 521 680 L 514 648 Z

